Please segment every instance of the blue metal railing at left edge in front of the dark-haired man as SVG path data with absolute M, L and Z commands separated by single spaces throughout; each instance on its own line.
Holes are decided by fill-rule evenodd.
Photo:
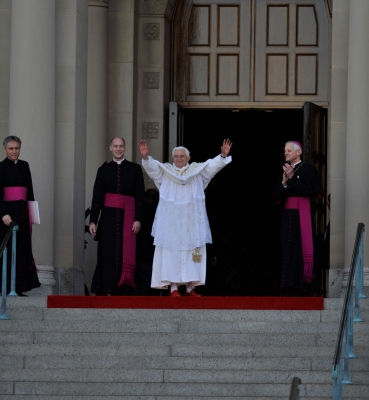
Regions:
M 10 276 L 10 292 L 8 296 L 18 296 L 15 292 L 15 274 L 16 274 L 16 262 L 17 262 L 17 237 L 16 232 L 18 225 L 15 222 L 11 222 L 8 230 L 6 231 L 3 242 L 0 246 L 0 257 L 3 256 L 3 273 L 2 273 L 2 288 L 1 288 L 1 315 L 0 319 L 9 319 L 6 315 L 6 292 L 7 292 L 7 273 L 8 273 L 8 249 L 7 244 L 12 235 L 12 265 L 11 265 L 11 276 Z

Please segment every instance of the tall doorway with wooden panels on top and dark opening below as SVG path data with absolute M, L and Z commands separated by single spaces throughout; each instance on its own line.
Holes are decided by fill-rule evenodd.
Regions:
M 204 161 L 218 154 L 223 138 L 234 142 L 233 163 L 207 189 L 214 246 L 204 293 L 278 293 L 280 210 L 272 193 L 283 145 L 303 141 L 304 102 L 328 106 L 328 82 L 325 2 L 178 3 L 172 100 L 182 107 L 183 125 L 177 143 L 193 161 Z

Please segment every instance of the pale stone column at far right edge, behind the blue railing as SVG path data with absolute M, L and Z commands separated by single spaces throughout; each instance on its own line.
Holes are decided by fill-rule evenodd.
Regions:
M 364 248 L 369 250 L 369 1 L 350 1 L 347 83 L 345 269 L 349 268 L 357 224 L 367 227 Z M 368 256 L 366 256 L 368 284 Z M 345 276 L 345 274 L 344 274 Z M 343 286 L 345 282 L 343 283 Z

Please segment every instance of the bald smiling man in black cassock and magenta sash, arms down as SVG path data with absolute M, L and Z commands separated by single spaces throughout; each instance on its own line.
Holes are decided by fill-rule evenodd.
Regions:
M 124 159 L 124 140 L 114 138 L 110 150 L 113 160 L 98 169 L 93 189 L 90 233 L 96 235 L 98 251 L 91 293 L 125 294 L 129 293 L 129 287 L 135 286 L 135 235 L 141 227 L 145 189 L 141 167 Z M 107 202 L 111 199 L 113 204 Z M 115 199 L 122 200 L 126 205 L 115 207 Z M 133 203 L 133 211 L 127 207 L 128 200 Z M 130 232 L 125 225 L 127 218 L 134 221 L 129 226 Z M 132 240 L 131 237 L 127 239 L 129 233 L 134 234 L 132 245 L 131 242 L 127 244 L 128 240 Z M 134 252 L 134 260 L 129 263 L 124 261 L 128 252 Z

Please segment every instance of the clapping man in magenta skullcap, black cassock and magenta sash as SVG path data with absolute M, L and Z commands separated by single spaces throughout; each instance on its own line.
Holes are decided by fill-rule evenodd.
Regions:
M 284 205 L 281 221 L 282 288 L 302 289 L 315 276 L 316 254 L 310 201 L 321 197 L 323 188 L 318 171 L 301 161 L 301 154 L 302 146 L 298 142 L 286 143 L 286 164 L 273 195 L 275 202 Z M 309 246 L 310 250 L 306 250 Z

